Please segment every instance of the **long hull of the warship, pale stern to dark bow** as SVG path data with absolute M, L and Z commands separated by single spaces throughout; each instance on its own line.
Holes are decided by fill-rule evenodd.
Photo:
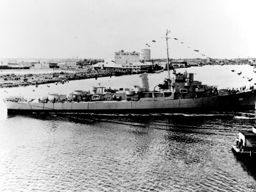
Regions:
M 223 111 L 255 109 L 256 90 L 194 99 L 149 98 L 139 101 L 99 102 L 11 102 L 8 113 L 177 113 L 179 111 Z

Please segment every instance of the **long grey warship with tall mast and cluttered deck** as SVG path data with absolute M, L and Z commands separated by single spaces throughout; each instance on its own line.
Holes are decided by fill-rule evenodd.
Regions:
M 170 78 L 167 40 L 168 78 L 149 90 L 147 73 L 140 74 L 140 86 L 111 90 L 93 87 L 90 92 L 74 91 L 67 97 L 58 93 L 46 99 L 5 99 L 8 113 L 176 113 L 178 111 L 255 109 L 256 90 L 217 90 L 194 81 L 194 74 Z M 156 88 L 159 88 L 156 90 Z

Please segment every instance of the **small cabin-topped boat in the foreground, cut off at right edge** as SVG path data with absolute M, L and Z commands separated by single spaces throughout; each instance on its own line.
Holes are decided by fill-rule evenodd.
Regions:
M 256 129 L 240 131 L 232 151 L 236 156 L 256 157 Z

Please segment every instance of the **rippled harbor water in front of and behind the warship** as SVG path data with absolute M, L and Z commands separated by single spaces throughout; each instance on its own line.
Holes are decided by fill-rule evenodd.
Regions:
M 249 65 L 177 72 L 185 70 L 218 88 L 249 88 L 256 83 Z M 166 71 L 150 74 L 151 90 L 165 77 Z M 1 97 L 37 99 L 91 86 L 134 85 L 138 75 L 100 77 L 5 88 Z M 256 191 L 255 162 L 238 159 L 231 150 L 239 131 L 256 126 L 255 110 L 7 115 L 0 105 L 1 191 Z

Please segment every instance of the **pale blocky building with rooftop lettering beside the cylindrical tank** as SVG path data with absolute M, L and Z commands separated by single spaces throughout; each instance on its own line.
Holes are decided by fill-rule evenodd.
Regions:
M 140 61 L 140 52 L 124 52 L 123 50 L 119 52 L 114 52 L 114 62 L 116 64 L 126 64 L 131 62 Z

